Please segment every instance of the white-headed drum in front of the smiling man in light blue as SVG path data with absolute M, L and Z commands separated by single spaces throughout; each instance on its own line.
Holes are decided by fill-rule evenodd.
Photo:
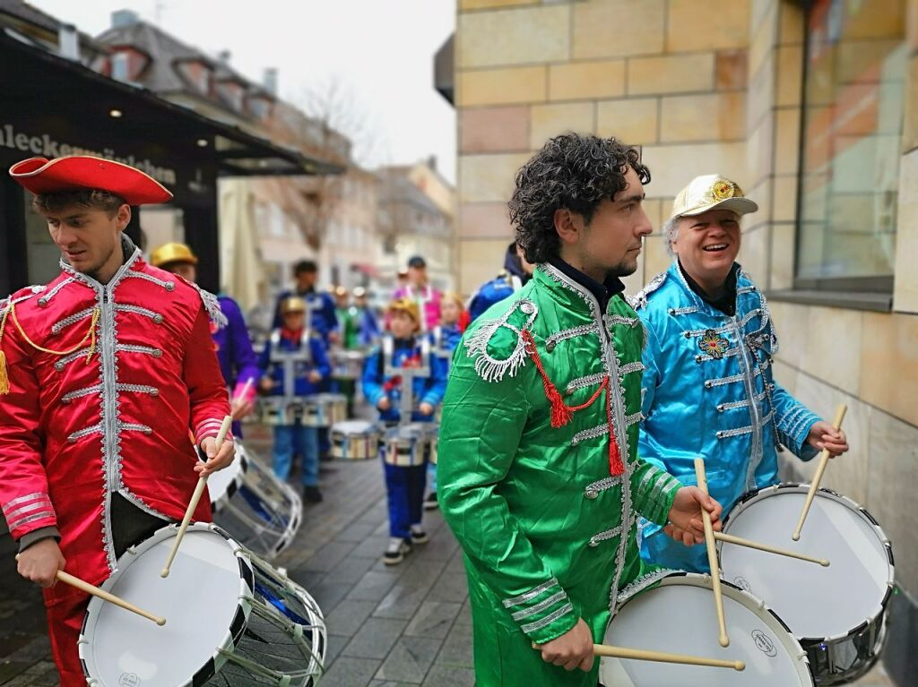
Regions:
M 879 658 L 894 583 L 892 548 L 877 521 L 845 496 L 819 490 L 800 534 L 809 484 L 779 484 L 745 495 L 724 518 L 736 537 L 789 548 L 828 568 L 719 543 L 723 577 L 768 600 L 810 656 L 816 683 L 856 680 Z

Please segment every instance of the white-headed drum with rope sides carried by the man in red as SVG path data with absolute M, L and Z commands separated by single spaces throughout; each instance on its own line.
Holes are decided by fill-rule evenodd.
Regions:
M 166 618 L 165 626 L 93 597 L 79 652 L 92 687 L 314 684 L 324 670 L 319 605 L 218 526 L 189 526 L 168 579 L 177 526 L 162 527 L 118 560 L 102 584 Z M 215 677 L 216 676 L 216 677 Z

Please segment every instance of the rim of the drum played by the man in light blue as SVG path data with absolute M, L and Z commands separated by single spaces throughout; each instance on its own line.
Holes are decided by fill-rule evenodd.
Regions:
M 746 492 L 735 504 L 733 504 L 733 508 L 730 509 L 730 513 L 723 517 L 722 531 L 724 533 L 727 532 L 727 526 L 730 522 L 730 517 L 734 513 L 742 513 L 746 508 L 749 507 L 750 504 L 754 503 L 755 501 L 759 501 L 779 492 L 794 491 L 799 493 L 808 493 L 809 490 L 810 484 L 807 482 L 781 482 L 779 484 L 772 484 L 771 486 L 761 487 L 759 489 L 753 489 L 752 491 Z M 837 635 L 826 635 L 825 637 L 798 637 L 797 635 L 794 635 L 794 637 L 797 637 L 800 640 L 800 644 L 806 647 L 810 647 L 816 644 L 839 644 L 844 642 L 849 637 L 854 637 L 856 635 L 862 634 L 871 626 L 876 626 L 881 618 L 884 618 L 889 614 L 890 599 L 892 598 L 892 591 L 896 586 L 896 566 L 895 559 L 892 555 L 892 542 L 890 541 L 890 538 L 886 536 L 883 528 L 879 525 L 879 521 L 873 515 L 870 515 L 867 508 L 861 504 L 858 504 L 849 496 L 845 496 L 845 494 L 835 492 L 832 489 L 821 487 L 816 491 L 816 496 L 823 496 L 824 498 L 828 498 L 837 504 L 844 505 L 845 508 L 853 511 L 855 515 L 858 515 L 867 521 L 867 525 L 874 530 L 874 534 L 879 538 L 879 543 L 886 551 L 887 580 L 886 593 L 883 594 L 883 598 L 879 602 L 877 613 L 871 615 L 857 626 L 852 627 L 846 632 L 840 632 Z M 717 542 L 718 562 L 721 560 L 722 547 L 723 542 Z

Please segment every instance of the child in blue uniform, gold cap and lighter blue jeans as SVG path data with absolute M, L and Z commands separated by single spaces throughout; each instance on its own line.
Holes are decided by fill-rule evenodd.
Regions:
M 325 345 L 319 335 L 306 326 L 307 305 L 299 296 L 281 301 L 282 325 L 275 329 L 264 346 L 259 387 L 272 397 L 277 413 L 274 424 L 274 474 L 286 480 L 294 453 L 303 457 L 303 499 L 322 500 L 319 492 L 319 438 L 316 427 L 308 427 L 296 408 L 302 409 L 306 396 L 319 393 L 319 383 L 331 372 Z

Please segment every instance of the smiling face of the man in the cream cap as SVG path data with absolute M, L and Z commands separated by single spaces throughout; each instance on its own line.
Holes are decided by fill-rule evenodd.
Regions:
M 696 282 L 722 285 L 740 251 L 740 221 L 733 210 L 680 217 L 673 252 Z

